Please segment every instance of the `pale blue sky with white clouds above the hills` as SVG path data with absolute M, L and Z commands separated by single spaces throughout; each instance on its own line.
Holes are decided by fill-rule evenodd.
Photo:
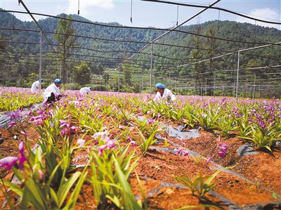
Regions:
M 77 14 L 78 0 L 22 0 L 27 8 L 34 13 L 58 15 L 60 13 Z M 163 0 L 174 1 L 174 0 Z M 187 0 L 174 1 L 183 4 L 200 4 L 208 6 L 214 1 L 209 0 Z M 281 0 L 221 0 L 215 6 L 226 8 L 231 11 L 250 15 L 262 20 L 281 22 Z M 25 11 L 22 5 L 18 6 L 18 0 L 0 0 L 0 8 L 4 10 Z M 91 21 L 119 22 L 122 25 L 133 27 L 173 27 L 192 17 L 202 8 L 178 7 L 171 4 L 160 4 L 149 1 L 132 0 L 131 22 L 131 0 L 79 0 L 80 15 Z M 20 20 L 30 21 L 29 15 L 17 14 Z M 264 22 L 249 20 L 237 15 L 216 10 L 208 10 L 199 17 L 187 22 L 185 25 L 207 22 L 209 20 L 234 20 L 237 22 L 249 22 L 251 24 L 265 27 L 275 27 L 281 30 L 281 25 L 273 25 Z M 36 15 L 37 20 L 44 18 Z

